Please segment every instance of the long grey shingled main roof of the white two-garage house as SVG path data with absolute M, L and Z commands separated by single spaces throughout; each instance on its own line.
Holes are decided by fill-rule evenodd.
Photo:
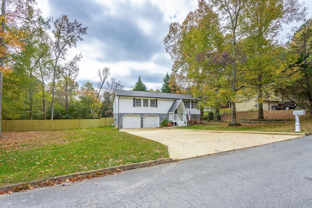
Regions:
M 128 97 L 153 97 L 153 98 L 167 98 L 167 99 L 183 99 L 183 100 L 200 100 L 193 98 L 192 95 L 185 94 L 173 94 L 173 93 L 151 93 L 142 91 L 132 90 L 114 90 L 117 96 L 128 96 Z

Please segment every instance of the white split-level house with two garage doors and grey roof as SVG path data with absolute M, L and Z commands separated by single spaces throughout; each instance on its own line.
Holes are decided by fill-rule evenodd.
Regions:
M 187 120 L 199 120 L 200 99 L 192 95 L 114 90 L 114 125 L 118 129 L 156 128 L 165 118 L 174 126 L 186 126 Z

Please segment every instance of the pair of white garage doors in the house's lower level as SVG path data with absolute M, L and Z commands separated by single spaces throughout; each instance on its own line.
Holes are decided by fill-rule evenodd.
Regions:
M 158 115 L 144 115 L 143 128 L 157 128 L 159 127 Z M 141 128 L 141 116 L 138 114 L 124 115 L 122 119 L 123 129 L 139 129 Z

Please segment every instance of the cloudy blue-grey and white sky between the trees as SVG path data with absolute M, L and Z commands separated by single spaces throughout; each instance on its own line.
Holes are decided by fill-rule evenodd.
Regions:
M 305 3 L 310 6 L 312 0 Z M 68 57 L 83 55 L 77 78 L 80 86 L 91 81 L 97 87 L 98 69 L 107 66 L 124 89 L 134 87 L 141 76 L 148 89 L 156 90 L 171 72 L 172 61 L 163 44 L 169 25 L 181 23 L 196 9 L 197 0 L 38 0 L 38 7 L 45 18 L 65 14 L 88 27 L 88 34 Z

